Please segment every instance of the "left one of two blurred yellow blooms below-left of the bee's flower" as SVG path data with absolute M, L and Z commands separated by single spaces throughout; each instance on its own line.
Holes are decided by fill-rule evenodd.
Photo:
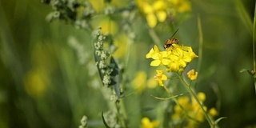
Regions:
M 132 84 L 134 89 L 138 90 L 138 93 L 141 93 L 146 87 L 146 72 L 138 71 Z

